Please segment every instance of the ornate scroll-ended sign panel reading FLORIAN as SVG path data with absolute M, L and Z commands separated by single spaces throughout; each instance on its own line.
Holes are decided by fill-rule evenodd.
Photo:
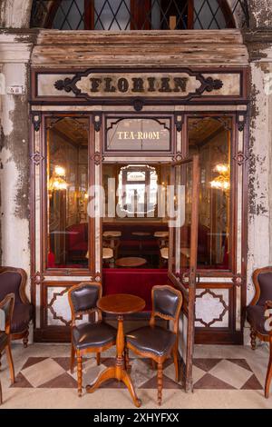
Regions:
M 189 69 L 173 73 L 113 72 L 101 73 L 87 70 L 73 78 L 66 77 L 54 82 L 58 91 L 73 93 L 88 100 L 97 98 L 173 97 L 190 99 L 203 92 L 219 90 L 219 79 L 193 73 Z

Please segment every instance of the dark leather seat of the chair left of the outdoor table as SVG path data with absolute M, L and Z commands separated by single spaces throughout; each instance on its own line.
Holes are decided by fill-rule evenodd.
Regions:
M 73 345 L 78 350 L 102 347 L 116 340 L 116 329 L 107 323 L 83 323 L 73 327 Z

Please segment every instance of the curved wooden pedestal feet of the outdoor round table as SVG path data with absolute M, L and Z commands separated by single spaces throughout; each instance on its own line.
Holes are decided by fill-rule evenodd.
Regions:
M 124 369 L 122 369 L 119 366 L 111 366 L 110 368 L 105 369 L 105 371 L 101 372 L 99 377 L 97 378 L 96 382 L 92 385 L 87 385 L 86 392 L 94 392 L 101 384 L 102 382 L 108 381 L 110 379 L 116 379 L 118 381 L 123 382 L 127 388 L 129 389 L 129 392 L 131 393 L 131 398 L 137 408 L 140 408 L 141 406 L 141 400 L 138 399 L 136 392 L 134 390 L 134 387 L 131 382 L 131 377 Z

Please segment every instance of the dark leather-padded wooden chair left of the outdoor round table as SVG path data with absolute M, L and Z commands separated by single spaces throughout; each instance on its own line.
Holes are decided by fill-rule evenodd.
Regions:
M 79 396 L 82 396 L 83 393 L 83 354 L 96 353 L 96 360 L 99 365 L 101 352 L 116 343 L 116 330 L 109 324 L 102 322 L 102 313 L 96 306 L 101 297 L 102 285 L 97 282 L 79 283 L 68 291 L 72 313 L 71 372 L 73 372 L 76 353 Z M 97 316 L 94 323 L 90 321 L 92 313 Z M 76 320 L 82 319 L 84 314 L 89 315 L 89 322 L 76 325 Z

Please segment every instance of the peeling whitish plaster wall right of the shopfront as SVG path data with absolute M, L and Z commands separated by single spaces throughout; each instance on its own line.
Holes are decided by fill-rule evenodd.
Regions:
M 268 65 L 251 64 L 249 139 L 248 303 L 254 296 L 256 268 L 272 263 L 271 103 L 265 91 Z M 271 95 L 270 95 L 271 98 Z

